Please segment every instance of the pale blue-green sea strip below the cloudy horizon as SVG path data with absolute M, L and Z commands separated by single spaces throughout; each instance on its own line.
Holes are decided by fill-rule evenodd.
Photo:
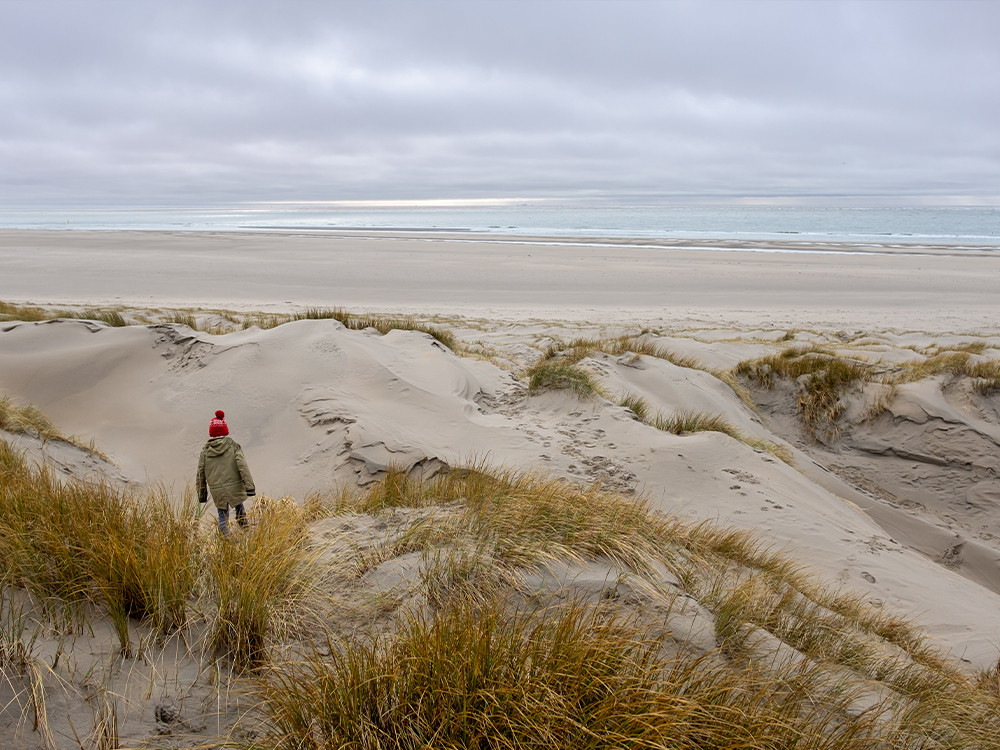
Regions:
M 1000 208 L 341 204 L 5 210 L 0 228 L 471 232 L 551 238 L 780 241 L 1000 251 Z M 762 248 L 765 249 L 765 248 Z

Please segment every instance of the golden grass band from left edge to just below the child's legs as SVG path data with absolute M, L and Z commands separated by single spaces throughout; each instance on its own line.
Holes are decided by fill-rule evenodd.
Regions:
M 253 533 L 198 530 L 191 503 L 63 481 L 0 441 L 0 584 L 76 612 L 100 607 L 132 653 L 130 623 L 161 634 L 209 621 L 209 650 L 238 671 L 267 661 L 296 624 L 311 573 L 305 516 L 294 503 L 255 504 Z

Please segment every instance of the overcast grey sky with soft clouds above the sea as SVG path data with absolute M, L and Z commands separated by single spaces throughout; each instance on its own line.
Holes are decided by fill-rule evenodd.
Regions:
M 995 0 L 0 0 L 0 208 L 1000 205 Z

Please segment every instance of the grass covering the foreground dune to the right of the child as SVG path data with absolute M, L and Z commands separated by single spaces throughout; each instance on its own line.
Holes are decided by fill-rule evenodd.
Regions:
M 354 509 L 455 511 L 427 552 L 468 584 L 452 580 L 393 631 L 331 634 L 261 674 L 255 747 L 994 746 L 988 676 L 966 678 L 918 629 L 818 583 L 749 532 L 483 466 L 431 482 L 395 472 L 387 484 Z M 639 576 L 665 566 L 716 614 L 723 647 L 678 652 L 645 607 L 532 604 L 515 595 L 516 576 L 484 577 L 484 566 L 514 573 L 558 559 L 612 560 Z M 760 651 L 768 641 L 753 632 L 786 657 Z

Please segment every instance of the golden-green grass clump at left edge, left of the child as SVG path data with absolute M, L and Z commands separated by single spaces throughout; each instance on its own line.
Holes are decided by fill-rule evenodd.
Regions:
M 93 602 L 108 612 L 123 653 L 129 620 L 181 627 L 197 565 L 193 521 L 162 496 L 63 482 L 0 441 L 4 582 L 40 600 Z

